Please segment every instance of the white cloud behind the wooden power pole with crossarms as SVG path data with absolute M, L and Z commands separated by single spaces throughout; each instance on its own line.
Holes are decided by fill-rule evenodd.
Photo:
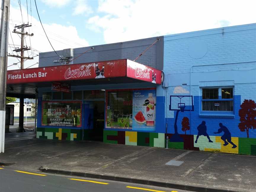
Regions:
M 22 7 L 23 12 L 26 12 L 26 8 Z M 14 29 L 14 25 L 20 25 L 21 24 L 21 18 L 20 18 L 20 9 L 18 7 L 10 7 L 10 22 L 9 22 L 9 28 L 10 31 L 12 32 Z M 29 23 L 32 23 L 32 27 L 30 27 L 30 31 L 28 31 L 28 28 L 25 28 L 25 32 L 27 31 L 28 33 L 34 33 L 34 36 L 30 37 L 27 36 L 26 39 L 26 44 L 28 47 L 30 47 L 30 41 L 31 39 L 31 47 L 33 50 L 38 50 L 40 52 L 48 52 L 48 51 L 53 51 L 51 45 L 49 44 L 44 31 L 42 29 L 42 26 L 36 18 L 32 17 L 32 21 L 30 20 L 31 17 L 29 15 Z M 24 20 L 24 22 L 26 22 Z M 78 32 L 76 30 L 76 27 L 72 25 L 59 25 L 56 23 L 50 23 L 50 24 L 45 24 L 43 23 L 44 29 L 47 33 L 47 36 L 54 47 L 55 50 L 62 50 L 62 49 L 67 49 L 67 48 L 76 48 L 76 47 L 85 47 L 88 46 L 88 42 L 85 39 L 82 39 L 79 37 Z M 9 33 L 9 44 L 11 48 L 9 47 L 8 53 L 12 54 L 12 50 L 14 47 L 20 47 L 20 37 L 15 34 L 12 34 L 12 39 L 14 41 L 15 46 L 13 46 L 13 42 L 11 39 L 11 35 Z M 16 55 L 16 52 L 13 52 L 14 55 Z M 38 52 L 34 52 L 34 55 L 38 54 Z M 31 55 L 31 51 L 25 51 L 25 57 L 28 57 Z M 31 57 L 31 56 L 30 56 Z M 33 60 L 27 60 L 25 61 L 24 68 L 31 66 L 38 62 L 38 56 L 35 57 Z M 8 66 L 12 65 L 13 63 L 17 63 L 19 60 L 14 57 L 8 57 Z M 20 63 L 18 64 L 20 66 Z M 33 67 L 38 67 L 38 65 L 34 65 Z M 13 65 L 11 67 L 8 67 L 8 70 L 11 69 L 18 69 L 17 65 Z

